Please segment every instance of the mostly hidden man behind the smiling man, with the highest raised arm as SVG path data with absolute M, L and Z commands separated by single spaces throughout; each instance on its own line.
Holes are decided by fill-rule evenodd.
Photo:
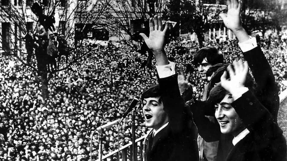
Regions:
M 277 114 L 279 108 L 279 97 L 276 88 L 277 84 L 275 83 L 274 75 L 272 73 L 270 65 L 268 64 L 260 47 L 257 46 L 256 39 L 250 38 L 240 24 L 240 6 L 241 3 L 238 3 L 237 0 L 229 0 L 228 13 L 222 14 L 221 16 L 226 27 L 232 30 L 238 38 L 239 46 L 243 51 L 243 56 L 250 65 L 250 69 L 254 76 L 255 82 L 257 83 L 255 84 L 255 82 L 252 81 L 251 77 L 249 76 L 249 82 L 247 84 L 250 84 L 250 86 L 248 87 L 254 89 L 256 98 L 268 110 L 268 112 L 271 113 L 271 118 L 275 123 L 277 123 Z M 217 72 L 217 74 L 213 77 L 220 78 L 223 71 L 224 70 L 222 70 L 222 72 Z M 223 99 L 223 96 L 225 96 L 224 92 L 218 93 L 214 92 L 213 90 L 213 93 L 210 93 L 209 100 L 214 100 L 216 98 L 218 101 L 220 101 L 221 99 Z M 225 160 L 230 152 L 229 149 L 233 148 L 233 145 L 231 143 L 234 136 L 231 136 L 231 138 L 229 138 L 228 136 L 230 136 L 230 133 L 217 133 L 216 131 L 218 131 L 219 125 L 213 124 L 203 117 L 203 115 L 206 115 L 206 113 L 203 113 L 207 111 L 213 111 L 212 108 L 209 107 L 209 109 L 205 108 L 204 110 L 202 108 L 199 110 L 199 108 L 201 107 L 198 106 L 198 108 L 192 109 L 194 114 L 194 120 L 199 130 L 199 134 L 201 134 L 204 140 L 220 140 L 217 160 Z M 212 131 L 212 133 L 210 133 L 210 131 Z M 228 145 L 229 140 L 231 146 Z

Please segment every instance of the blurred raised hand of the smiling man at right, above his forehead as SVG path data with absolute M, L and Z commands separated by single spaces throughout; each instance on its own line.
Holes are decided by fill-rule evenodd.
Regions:
M 239 88 L 244 87 L 246 75 L 248 73 L 247 61 L 242 63 L 241 60 L 233 61 L 233 68 L 231 65 L 227 67 L 230 79 L 227 79 L 227 72 L 225 71 L 221 76 L 221 86 L 225 88 L 230 94 L 235 94 Z

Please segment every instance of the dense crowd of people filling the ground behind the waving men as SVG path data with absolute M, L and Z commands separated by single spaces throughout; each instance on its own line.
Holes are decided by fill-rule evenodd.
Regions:
M 230 63 L 242 57 L 237 43 L 208 41 L 204 46 L 217 47 L 225 62 Z M 15 57 L 1 56 L 0 160 L 88 160 L 91 132 L 120 118 L 133 97 L 140 97 L 151 84 L 157 83 L 155 69 L 143 65 L 147 55 L 138 53 L 132 42 L 128 44 L 89 44 L 91 54 L 49 81 L 48 99 L 41 97 L 41 83 L 37 83 L 35 73 Z M 287 79 L 286 40 L 270 36 L 259 44 L 282 92 L 286 89 L 282 82 Z M 198 49 L 199 44 L 187 38 L 172 40 L 166 47 L 170 60 L 186 75 L 190 73 L 194 97 L 200 99 L 206 82 L 192 65 Z M 137 138 L 148 131 L 143 122 L 138 105 Z M 128 115 L 120 123 L 120 131 L 114 126 L 104 132 L 103 155 L 116 150 L 118 141 L 120 145 L 131 143 L 131 123 Z M 97 137 L 96 133 L 92 145 L 94 159 L 98 155 Z

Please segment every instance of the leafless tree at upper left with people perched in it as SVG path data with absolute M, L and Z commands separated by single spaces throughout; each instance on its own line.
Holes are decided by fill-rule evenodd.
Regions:
M 6 2 L 7 1 L 7 2 Z M 73 64 L 78 64 L 83 58 L 91 52 L 85 47 L 85 41 L 80 36 L 75 41 L 75 33 L 87 34 L 90 32 L 90 27 L 95 26 L 103 18 L 103 14 L 109 8 L 112 0 L 43 0 L 41 6 L 43 7 L 44 15 L 51 15 L 55 12 L 56 31 L 47 31 L 48 33 L 59 32 L 65 37 L 67 41 L 70 56 L 68 61 L 57 61 L 58 68 L 48 71 L 45 60 L 32 59 L 31 63 L 25 61 L 25 48 L 22 37 L 27 33 L 27 27 L 33 22 L 34 31 L 38 23 L 38 18 L 31 12 L 31 0 L 14 1 L 12 4 L 9 0 L 2 0 L 0 5 L 0 19 L 7 22 L 5 35 L 0 33 L 0 50 L 5 53 L 12 53 L 17 60 L 28 71 L 32 71 L 35 75 L 35 80 L 41 86 L 42 97 L 48 97 L 48 82 L 55 76 L 57 72 L 67 70 Z M 3 24 L 3 23 L 2 23 Z M 82 24 L 75 30 L 76 24 Z M 59 27 L 58 27 L 59 26 Z M 3 26 L 2 26 L 3 28 Z M 4 30 L 4 29 L 2 29 Z M 4 33 L 4 32 L 3 32 Z M 46 54 L 37 53 L 35 47 L 35 55 Z

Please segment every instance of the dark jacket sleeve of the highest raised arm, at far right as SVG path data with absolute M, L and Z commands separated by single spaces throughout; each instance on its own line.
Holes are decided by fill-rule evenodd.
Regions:
M 272 69 L 265 58 L 260 46 L 255 47 L 252 50 L 243 53 L 245 60 L 252 71 L 255 82 L 258 85 L 259 90 L 262 92 L 261 103 L 272 114 L 275 122 L 277 122 L 277 114 L 279 109 L 279 96 L 277 90 L 277 83 Z

